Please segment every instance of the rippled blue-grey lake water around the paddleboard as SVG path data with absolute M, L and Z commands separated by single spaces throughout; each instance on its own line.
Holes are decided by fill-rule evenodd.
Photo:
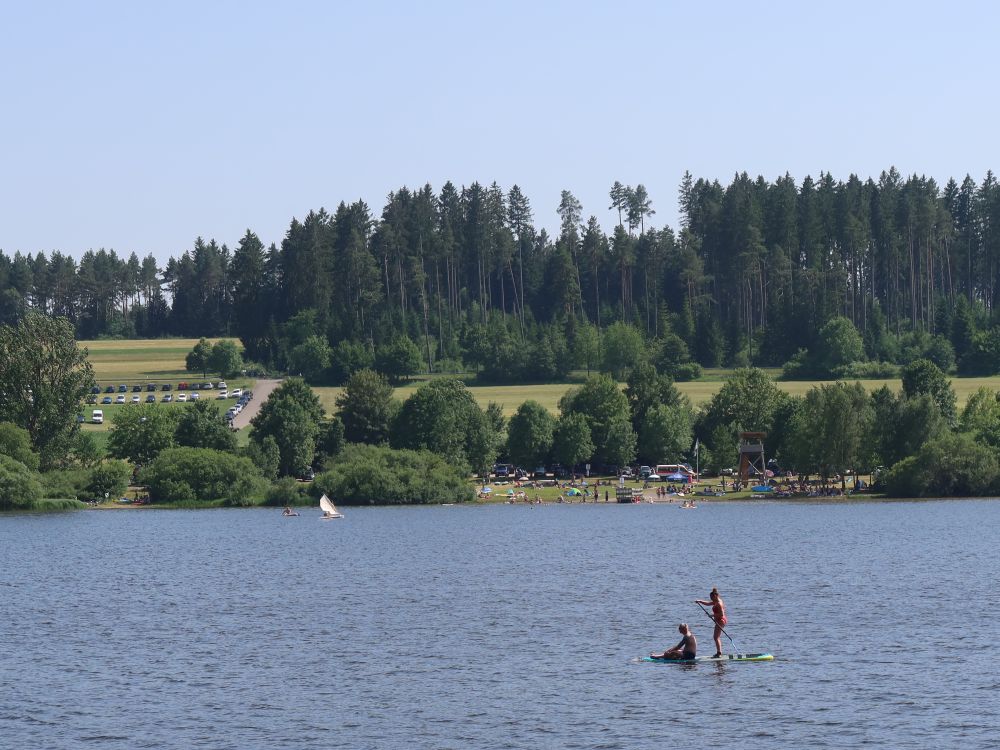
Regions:
M 0 746 L 1000 742 L 1000 502 L 344 510 L 0 516 Z

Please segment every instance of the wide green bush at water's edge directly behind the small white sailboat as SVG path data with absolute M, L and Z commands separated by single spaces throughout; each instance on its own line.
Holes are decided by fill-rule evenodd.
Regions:
M 344 505 L 453 503 L 473 490 L 453 466 L 425 450 L 349 445 L 330 471 L 316 477 L 313 494 Z

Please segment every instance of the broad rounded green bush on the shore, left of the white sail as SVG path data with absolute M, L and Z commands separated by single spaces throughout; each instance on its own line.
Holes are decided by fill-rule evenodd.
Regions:
M 225 500 L 249 505 L 263 495 L 253 462 L 211 448 L 169 448 L 139 475 L 154 502 Z

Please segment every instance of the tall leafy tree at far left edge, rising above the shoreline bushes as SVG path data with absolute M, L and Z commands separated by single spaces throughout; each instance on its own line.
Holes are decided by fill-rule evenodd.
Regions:
M 87 350 L 65 318 L 29 311 L 17 325 L 0 326 L 0 422 L 28 431 L 43 468 L 69 454 L 77 410 L 93 384 Z

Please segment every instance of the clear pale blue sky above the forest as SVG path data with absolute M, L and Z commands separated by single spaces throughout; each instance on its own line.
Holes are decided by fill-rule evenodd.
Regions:
M 814 5 L 818 7 L 813 7 Z M 165 260 L 402 185 L 676 225 L 684 170 L 980 181 L 989 3 L 6 3 L 0 249 Z

